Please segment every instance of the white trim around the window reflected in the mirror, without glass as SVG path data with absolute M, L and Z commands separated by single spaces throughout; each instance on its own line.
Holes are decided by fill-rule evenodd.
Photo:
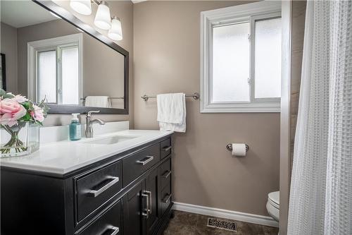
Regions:
M 27 43 L 27 97 L 37 100 L 37 52 L 67 44 L 78 44 L 78 98 L 83 95 L 83 34 L 77 33 L 63 37 L 54 37 Z

